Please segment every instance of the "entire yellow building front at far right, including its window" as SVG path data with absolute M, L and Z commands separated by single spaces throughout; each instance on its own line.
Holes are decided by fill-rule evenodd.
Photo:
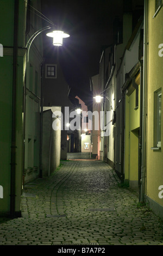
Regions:
M 150 207 L 163 218 L 163 156 L 162 156 L 162 66 L 163 7 L 162 1 L 145 1 L 145 82 L 146 100 L 146 164 L 144 194 Z

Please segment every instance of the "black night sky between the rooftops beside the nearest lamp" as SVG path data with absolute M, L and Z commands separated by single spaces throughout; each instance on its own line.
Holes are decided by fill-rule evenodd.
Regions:
M 83 100 L 90 93 L 89 77 L 99 72 L 101 46 L 112 43 L 112 23 L 122 15 L 122 4 L 123 0 L 42 0 L 42 13 L 70 34 L 58 54 L 67 83 Z M 48 51 L 57 50 L 49 45 Z

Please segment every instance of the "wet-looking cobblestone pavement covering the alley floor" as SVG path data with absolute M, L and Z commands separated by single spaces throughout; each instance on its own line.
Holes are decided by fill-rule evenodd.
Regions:
M 0 224 L 0 245 L 163 245 L 159 218 L 118 184 L 102 161 L 62 161 L 26 184 L 22 217 Z

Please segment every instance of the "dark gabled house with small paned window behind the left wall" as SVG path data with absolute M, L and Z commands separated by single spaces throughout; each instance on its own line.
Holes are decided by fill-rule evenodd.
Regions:
M 43 107 L 60 107 L 61 109 L 61 143 L 58 144 L 56 150 L 60 150 L 60 159 L 66 160 L 67 152 L 81 150 L 81 131 L 71 131 L 69 127 L 66 127 L 70 122 L 70 119 L 67 120 L 67 116 L 70 116 L 70 113 L 76 109 L 76 103 L 73 103 L 68 97 L 70 88 L 62 72 L 59 56 L 57 56 L 58 54 L 53 58 L 45 58 L 43 62 Z M 76 101 L 78 102 L 77 99 Z

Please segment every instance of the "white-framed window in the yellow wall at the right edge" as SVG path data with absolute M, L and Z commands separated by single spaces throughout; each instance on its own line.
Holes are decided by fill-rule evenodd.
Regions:
M 157 147 L 161 147 L 161 92 L 157 94 Z

